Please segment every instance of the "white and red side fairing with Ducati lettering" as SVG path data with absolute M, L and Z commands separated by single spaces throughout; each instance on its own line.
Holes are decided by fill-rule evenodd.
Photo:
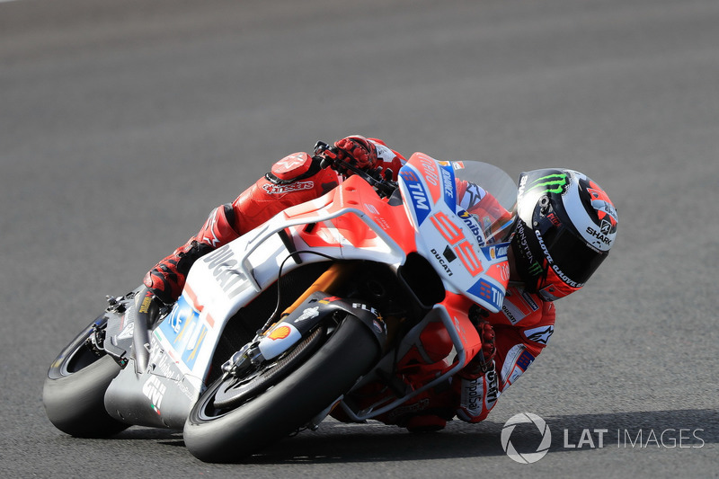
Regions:
M 280 268 L 285 274 L 300 262 L 328 259 L 399 265 L 413 249 L 404 208 L 389 206 L 367 182 L 350 178 L 195 262 L 182 297 L 155 328 L 155 340 L 200 386 L 226 322 L 269 287 Z

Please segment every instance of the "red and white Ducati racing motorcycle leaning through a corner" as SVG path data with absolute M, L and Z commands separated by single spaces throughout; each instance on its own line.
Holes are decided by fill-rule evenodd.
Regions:
M 144 286 L 108 297 L 49 368 L 49 420 L 183 430 L 195 457 L 232 462 L 448 381 L 481 349 L 473 308 L 502 307 L 517 189 L 422 153 L 398 173 L 357 170 L 206 254 L 173 305 Z

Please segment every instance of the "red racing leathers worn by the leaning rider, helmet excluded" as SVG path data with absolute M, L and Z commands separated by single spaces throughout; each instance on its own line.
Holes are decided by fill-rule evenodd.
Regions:
M 359 143 L 368 142 L 368 148 L 365 149 L 370 150 L 372 158 L 376 156 L 371 167 L 392 170 L 396 180 L 405 162 L 402 155 L 377 138 L 348 138 L 359 140 Z M 343 138 L 335 145 L 344 146 L 348 138 Z M 356 147 L 356 142 L 353 145 L 350 148 Z M 356 164 L 367 161 L 364 153 L 359 156 L 361 162 Z M 233 202 L 213 209 L 197 235 L 147 272 L 144 279 L 146 287 L 164 303 L 172 303 L 182 293 L 191 264 L 200 256 L 262 225 L 285 208 L 322 196 L 342 182 L 344 176 L 336 169 L 326 167 L 320 155 L 298 152 L 282 158 L 271 167 L 270 173 L 242 192 Z M 465 199 L 472 197 L 481 200 L 481 195 L 476 195 L 476 191 L 468 191 L 466 194 L 466 188 L 460 190 Z M 471 210 L 471 205 L 465 205 L 465 208 Z M 554 331 L 555 309 L 552 303 L 528 294 L 515 285 L 508 288 L 502 311 L 487 314 L 483 321 L 492 325 L 495 336 L 493 359 L 484 368 L 483 374 L 457 374 L 451 378 L 451 382 L 434 387 L 377 419 L 409 430 L 441 429 L 455 415 L 462 421 L 483 421 L 502 391 L 527 370 L 546 346 Z M 433 346 L 436 346 L 434 349 L 442 349 L 444 346 L 439 342 L 447 340 L 438 332 L 429 330 L 423 332 L 421 337 L 419 349 L 432 349 Z M 416 353 L 418 351 L 415 350 L 408 354 Z M 423 364 L 415 368 L 420 375 L 430 377 L 438 368 L 447 366 L 444 362 L 446 359 L 437 359 L 437 362 L 432 363 L 426 354 L 419 354 L 419 357 L 424 359 Z M 422 363 L 422 360 L 419 362 Z M 386 391 L 376 393 L 383 395 Z M 373 397 L 374 401 L 377 395 L 370 393 L 368 397 Z M 337 411 L 333 415 L 343 419 L 342 412 Z

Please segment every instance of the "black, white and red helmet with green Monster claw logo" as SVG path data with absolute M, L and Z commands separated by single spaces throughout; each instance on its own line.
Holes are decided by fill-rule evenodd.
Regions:
M 565 169 L 519 175 L 512 252 L 521 279 L 546 301 L 584 286 L 617 236 L 617 210 L 599 185 Z

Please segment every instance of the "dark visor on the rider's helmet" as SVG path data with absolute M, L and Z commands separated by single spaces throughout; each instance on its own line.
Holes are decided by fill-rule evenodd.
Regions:
M 592 250 L 564 227 L 557 227 L 544 217 L 537 229 L 556 267 L 576 283 L 583 284 L 597 271 L 607 253 Z

